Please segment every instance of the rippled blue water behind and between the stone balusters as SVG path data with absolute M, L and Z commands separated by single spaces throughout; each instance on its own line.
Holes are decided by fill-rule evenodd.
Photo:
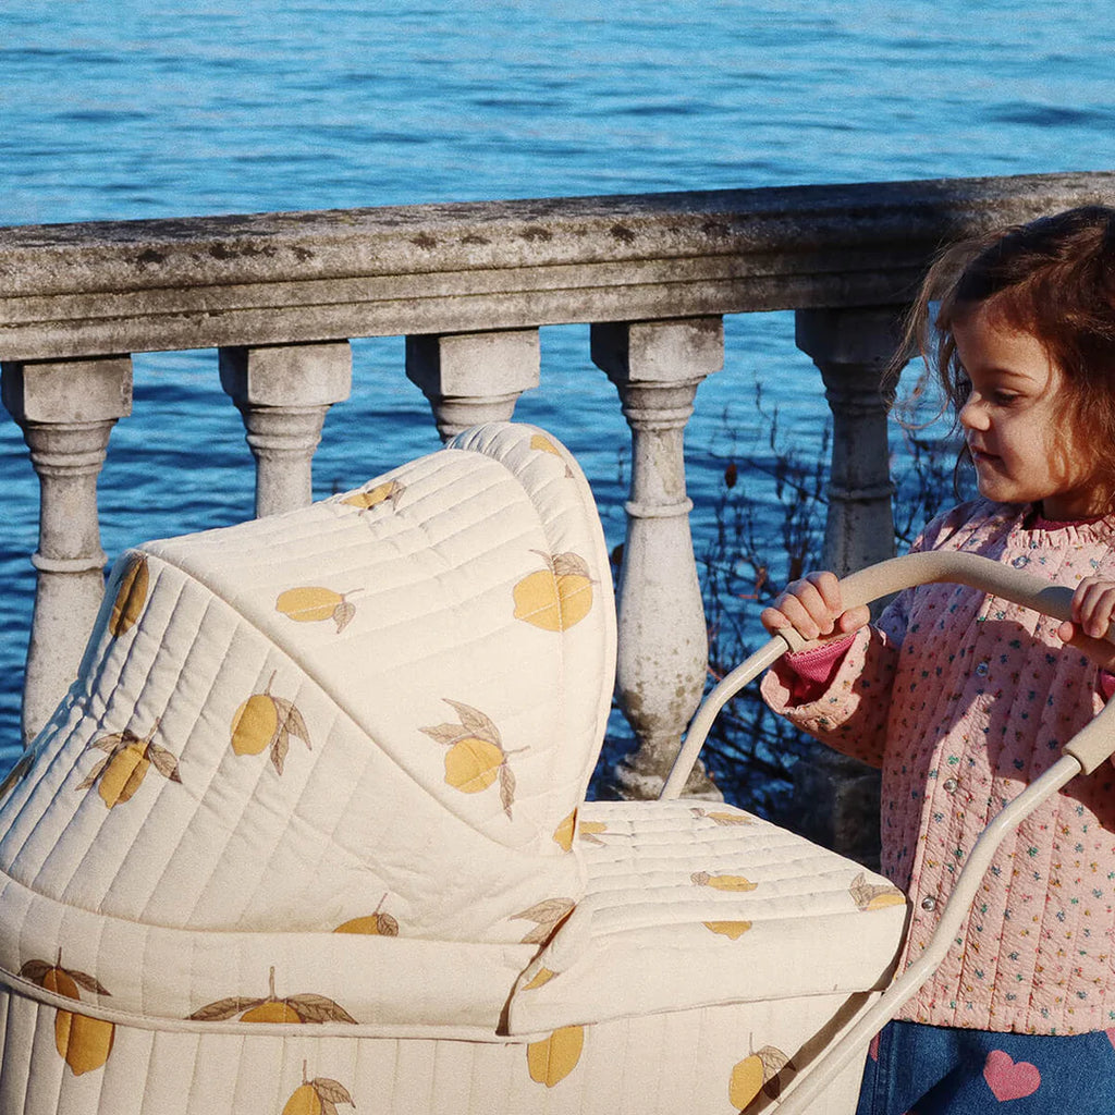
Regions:
M 1108 0 L 9 0 L 0 224 L 1108 169 L 1109 27 Z M 688 433 L 698 546 L 724 462 L 765 452 L 755 384 L 805 452 L 825 419 L 789 314 L 726 334 Z M 353 361 L 319 495 L 437 446 L 401 339 Z M 618 542 L 627 427 L 586 327 L 543 330 L 542 378 L 517 415 L 581 456 Z M 0 469 L 3 765 L 38 500 L 10 421 Z M 100 482 L 109 555 L 245 517 L 252 484 L 215 353 L 137 356 Z

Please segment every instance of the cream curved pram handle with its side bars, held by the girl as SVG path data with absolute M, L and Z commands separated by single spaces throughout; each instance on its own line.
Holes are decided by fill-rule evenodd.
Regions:
M 881 562 L 844 578 L 841 581 L 841 595 L 846 607 L 854 608 L 856 604 L 870 603 L 900 589 L 937 582 L 967 584 L 1056 619 L 1069 618 L 1072 589 L 1050 585 L 988 558 L 966 553 L 934 551 Z M 1115 624 L 1108 631 L 1107 638 L 1115 642 Z M 708 695 L 694 717 L 685 745 L 678 753 L 660 797 L 679 796 L 716 714 L 729 698 L 787 650 L 797 649 L 801 644 L 796 632 L 788 639 L 780 634 L 776 636 L 746 662 L 733 670 Z M 937 931 L 924 952 L 859 1017 L 838 1041 L 824 1050 L 812 1064 L 803 1066 L 803 1070 L 789 1085 L 782 1102 L 775 1105 L 779 1115 L 807 1115 L 811 1105 L 816 1103 L 833 1077 L 854 1057 L 862 1054 L 872 1037 L 929 979 L 949 951 L 1004 837 L 1076 775 L 1090 774 L 1095 770 L 1112 752 L 1115 752 L 1115 701 L 1111 701 L 1065 745 L 1061 757 L 1044 775 L 1035 779 L 989 822 L 957 880 L 957 885 L 941 913 Z

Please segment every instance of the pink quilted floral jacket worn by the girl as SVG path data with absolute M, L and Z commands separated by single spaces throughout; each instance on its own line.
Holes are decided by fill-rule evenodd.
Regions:
M 1045 523 L 979 500 L 935 520 L 914 549 L 979 553 L 1073 586 L 1115 579 L 1113 539 L 1113 517 Z M 973 589 L 924 585 L 856 633 L 815 699 L 794 702 L 789 666 L 764 678 L 772 708 L 882 767 L 882 870 L 913 903 L 902 968 L 924 949 L 988 821 L 1103 705 L 1096 667 L 1065 648 L 1057 626 Z M 900 1017 L 1025 1034 L 1115 1027 L 1113 782 L 1109 764 L 1074 778 L 1007 836 L 963 947 Z

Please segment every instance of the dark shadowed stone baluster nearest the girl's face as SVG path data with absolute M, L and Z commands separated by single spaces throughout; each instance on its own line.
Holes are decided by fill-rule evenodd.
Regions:
M 797 347 L 821 370 L 833 416 L 823 565 L 838 575 L 894 555 L 883 370 L 901 310 L 798 310 Z M 806 835 L 870 866 L 879 863 L 879 773 L 817 745 L 794 767 Z

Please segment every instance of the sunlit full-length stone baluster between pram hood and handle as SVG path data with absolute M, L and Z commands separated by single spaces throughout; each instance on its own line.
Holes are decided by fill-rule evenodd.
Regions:
M 639 748 L 618 766 L 615 780 L 624 797 L 650 798 L 670 772 L 708 670 L 683 435 L 697 387 L 724 365 L 724 326 L 718 317 L 597 324 L 591 343 L 631 427 L 617 695 Z M 704 766 L 685 793 L 720 799 Z

